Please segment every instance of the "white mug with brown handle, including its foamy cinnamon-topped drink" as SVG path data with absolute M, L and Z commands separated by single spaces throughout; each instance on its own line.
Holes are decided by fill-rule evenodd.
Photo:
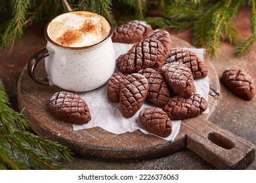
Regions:
M 28 63 L 28 74 L 39 84 L 86 92 L 105 84 L 116 67 L 113 27 L 99 14 L 87 11 L 56 16 L 45 27 L 47 46 Z M 45 58 L 46 78 L 35 75 Z

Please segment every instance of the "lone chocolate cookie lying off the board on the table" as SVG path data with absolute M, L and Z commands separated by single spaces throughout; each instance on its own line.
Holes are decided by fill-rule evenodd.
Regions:
M 243 69 L 230 67 L 223 72 L 223 82 L 229 90 L 246 101 L 255 96 L 255 84 Z

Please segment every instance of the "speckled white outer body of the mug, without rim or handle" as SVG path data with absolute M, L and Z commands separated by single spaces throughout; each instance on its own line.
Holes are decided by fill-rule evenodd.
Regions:
M 45 68 L 56 86 L 73 92 L 94 90 L 105 84 L 116 67 L 112 40 L 85 50 L 68 50 L 47 43 L 51 52 Z

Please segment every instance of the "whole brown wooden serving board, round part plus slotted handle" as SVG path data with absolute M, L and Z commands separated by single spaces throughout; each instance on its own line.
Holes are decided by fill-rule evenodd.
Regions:
M 192 47 L 187 42 L 177 39 L 176 37 L 171 37 L 171 39 L 177 47 Z M 18 106 L 20 110 L 25 108 L 24 114 L 28 117 L 30 127 L 37 135 L 64 144 L 75 153 L 85 157 L 149 159 L 167 156 L 168 154 L 172 154 L 184 148 L 189 148 L 219 169 L 236 169 L 238 167 L 244 169 L 249 165 L 249 162 L 251 162 L 251 158 L 255 156 L 255 150 L 253 152 L 254 146 L 252 144 L 247 141 L 242 141 L 239 137 L 232 136 L 232 133 L 223 130 L 224 132 L 222 131 L 221 135 L 226 137 L 226 139 L 238 138 L 241 140 L 239 142 L 232 140 L 235 144 L 236 142 L 241 144 L 241 146 L 236 145 L 238 148 L 242 148 L 242 145 L 246 146 L 241 152 L 244 152 L 243 157 L 245 156 L 247 158 L 243 158 L 241 157 L 241 153 L 237 153 L 237 157 L 231 158 L 234 161 L 229 161 L 225 160 L 227 158 L 226 156 L 221 156 L 221 154 L 223 154 L 223 148 L 219 148 L 219 146 L 207 139 L 207 135 L 211 132 L 207 129 L 208 125 L 213 130 L 220 130 L 217 125 L 211 124 L 211 122 L 208 121 L 211 119 L 211 116 L 214 115 L 215 108 L 217 107 L 220 85 L 217 73 L 213 65 L 211 65 L 208 56 L 205 57 L 205 64 L 209 69 L 209 113 L 184 120 L 181 124 L 181 130 L 173 142 L 165 141 L 154 135 L 146 135 L 139 130 L 120 135 L 110 133 L 100 127 L 73 131 L 72 124 L 68 124 L 56 118 L 49 109 L 49 99 L 51 99 L 51 96 L 63 90 L 57 86 L 35 84 L 28 76 L 26 67 L 18 80 Z M 43 62 L 39 63 L 37 70 L 40 76 L 45 75 Z M 198 126 L 198 124 L 202 124 L 207 130 L 204 131 L 204 129 L 200 129 L 199 133 L 198 129 L 195 129 L 201 127 L 201 125 Z M 205 141 L 199 141 L 201 136 L 204 139 L 206 138 Z M 200 144 L 202 143 L 214 145 L 201 146 Z M 210 151 L 210 149 L 213 150 Z M 209 154 L 209 152 L 211 153 Z M 220 159 L 218 160 L 218 158 Z M 237 161 L 238 159 L 241 161 Z M 215 163 L 215 161 L 218 162 Z M 236 165 L 234 165 L 234 163 Z

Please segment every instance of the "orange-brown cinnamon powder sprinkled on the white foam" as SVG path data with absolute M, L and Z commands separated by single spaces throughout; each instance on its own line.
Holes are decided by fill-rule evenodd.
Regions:
M 96 35 L 97 29 L 97 25 L 93 24 L 93 20 L 85 20 L 79 29 L 71 29 L 66 31 L 62 37 L 57 39 L 57 41 L 64 46 L 71 46 L 75 42 L 79 42 L 79 40 L 81 40 L 83 33 L 91 33 Z

